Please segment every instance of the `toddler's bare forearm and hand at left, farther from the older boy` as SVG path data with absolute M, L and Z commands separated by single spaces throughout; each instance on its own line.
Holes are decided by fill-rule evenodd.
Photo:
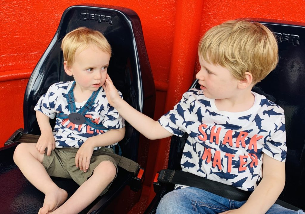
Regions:
M 50 118 L 40 111 L 36 111 L 36 118 L 41 131 L 36 148 L 41 154 L 44 154 L 45 148 L 48 148 L 47 155 L 49 156 L 51 151 L 55 149 L 55 139 L 50 125 Z

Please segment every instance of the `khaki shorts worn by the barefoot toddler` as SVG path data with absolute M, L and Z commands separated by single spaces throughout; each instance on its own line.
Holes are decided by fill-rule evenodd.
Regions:
M 75 152 L 70 152 L 69 150 L 71 149 Z M 102 147 L 99 150 L 114 153 L 113 149 L 107 147 Z M 45 153 L 42 165 L 47 170 L 48 175 L 61 178 L 71 178 L 81 186 L 81 184 L 83 184 L 93 174 L 95 167 L 97 167 L 97 165 L 99 165 L 99 163 L 102 161 L 110 161 L 117 168 L 117 163 L 112 157 L 108 155 L 92 155 L 89 169 L 87 172 L 84 172 L 75 166 L 76 151 L 76 148 L 55 148 L 52 150 L 50 156 L 47 156 Z M 115 177 L 117 177 L 117 174 Z M 107 192 L 111 183 L 109 183 L 109 185 L 102 191 L 100 195 L 103 195 Z

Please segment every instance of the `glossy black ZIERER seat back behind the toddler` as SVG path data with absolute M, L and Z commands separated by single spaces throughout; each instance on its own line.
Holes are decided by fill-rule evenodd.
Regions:
M 48 87 L 73 80 L 64 71 L 60 45 L 68 32 L 83 26 L 105 35 L 113 52 L 108 74 L 114 85 L 127 103 L 152 117 L 155 88 L 137 14 L 120 7 L 72 6 L 63 13 L 54 38 L 29 79 L 23 102 L 24 133 L 40 134 L 33 109 Z M 127 124 L 126 136 L 119 143 L 123 156 L 137 160 L 138 138 L 138 132 Z

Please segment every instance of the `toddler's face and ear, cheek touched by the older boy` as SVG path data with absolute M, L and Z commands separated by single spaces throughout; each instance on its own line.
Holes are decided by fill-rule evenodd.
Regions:
M 65 71 L 74 77 L 75 88 L 83 92 L 96 91 L 101 87 L 107 76 L 110 55 L 89 45 L 81 52 L 75 53 L 74 63 L 68 67 L 64 62 Z

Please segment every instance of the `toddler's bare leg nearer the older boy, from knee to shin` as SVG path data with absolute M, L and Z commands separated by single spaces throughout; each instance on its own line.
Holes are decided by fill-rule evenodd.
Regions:
M 63 205 L 52 213 L 79 213 L 94 201 L 113 181 L 117 173 L 111 161 L 102 161 L 95 167 L 92 176 L 86 180 Z

